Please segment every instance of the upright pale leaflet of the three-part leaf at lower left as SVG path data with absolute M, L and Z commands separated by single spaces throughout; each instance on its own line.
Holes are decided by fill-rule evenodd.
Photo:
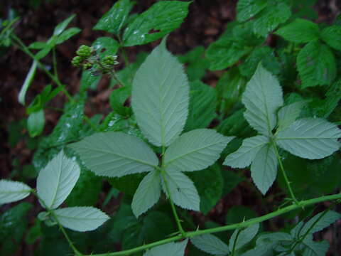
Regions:
M 55 209 L 60 206 L 80 177 L 80 166 L 75 159 L 68 159 L 63 151 L 55 156 L 37 178 L 37 193 L 41 206 Z

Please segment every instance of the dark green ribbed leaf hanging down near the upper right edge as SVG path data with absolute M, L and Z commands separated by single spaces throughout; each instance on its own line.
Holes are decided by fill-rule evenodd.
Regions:
M 328 46 L 311 41 L 297 55 L 302 87 L 330 85 L 336 76 L 335 58 Z

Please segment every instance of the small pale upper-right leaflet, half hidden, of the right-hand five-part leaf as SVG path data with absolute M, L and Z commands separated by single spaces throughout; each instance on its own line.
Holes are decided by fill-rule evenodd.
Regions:
M 281 107 L 278 111 L 278 130 L 286 129 L 290 124 L 295 122 L 305 104 L 306 102 L 301 101 Z

